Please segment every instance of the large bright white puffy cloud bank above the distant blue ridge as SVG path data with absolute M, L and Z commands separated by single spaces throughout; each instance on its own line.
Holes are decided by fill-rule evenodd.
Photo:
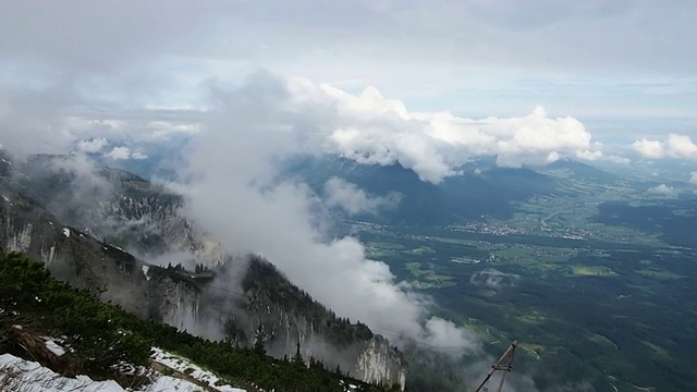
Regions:
M 432 183 L 458 174 L 460 166 L 481 156 L 497 156 L 498 164 L 514 168 L 565 157 L 603 159 L 601 146 L 578 120 L 550 119 L 541 107 L 522 118 L 472 120 L 409 112 L 375 87 L 351 95 L 306 79 L 285 85 L 290 97 L 284 105 L 313 123 L 325 151 L 366 164 L 400 163 Z

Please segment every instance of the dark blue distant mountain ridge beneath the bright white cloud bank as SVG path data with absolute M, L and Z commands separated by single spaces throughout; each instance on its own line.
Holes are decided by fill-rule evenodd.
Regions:
M 482 216 L 510 219 L 513 204 L 533 195 L 553 195 L 561 191 L 553 177 L 529 168 L 498 168 L 486 160 L 462 168 L 462 174 L 439 184 L 424 182 L 400 164 L 367 166 L 340 157 L 296 159 L 285 168 L 285 177 L 299 177 L 318 194 L 331 177 L 340 177 L 376 196 L 401 194 L 396 209 L 381 211 L 365 220 L 392 224 L 443 225 Z

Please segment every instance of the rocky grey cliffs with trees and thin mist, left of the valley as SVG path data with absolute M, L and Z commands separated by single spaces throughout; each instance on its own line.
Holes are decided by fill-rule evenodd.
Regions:
M 292 357 L 299 343 L 304 358 L 327 368 L 405 384 L 405 364 L 386 339 L 338 318 L 268 261 L 224 255 L 181 217 L 179 195 L 126 172 L 85 173 L 54 159 L 66 158 L 39 157 L 0 173 L 2 250 L 41 259 L 56 277 L 142 317 L 240 345 L 262 340 L 277 357 Z M 151 266 L 110 244 L 206 269 Z

